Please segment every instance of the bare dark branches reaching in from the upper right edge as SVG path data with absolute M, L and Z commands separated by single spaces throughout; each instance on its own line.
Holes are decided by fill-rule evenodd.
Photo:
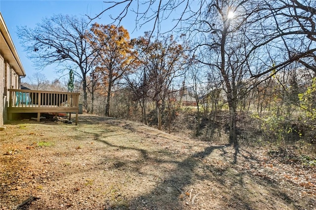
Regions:
M 261 24 L 262 45 L 269 49 L 271 63 L 253 76 L 273 75 L 293 62 L 316 72 L 316 2 L 267 0 L 264 5 L 269 13 Z

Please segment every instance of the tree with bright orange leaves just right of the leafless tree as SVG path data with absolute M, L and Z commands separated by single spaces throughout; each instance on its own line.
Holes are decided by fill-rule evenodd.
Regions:
M 110 116 L 110 100 L 113 86 L 133 70 L 134 53 L 129 34 L 122 26 L 93 24 L 89 42 L 96 52 L 96 72 L 102 74 L 107 87 L 105 115 Z

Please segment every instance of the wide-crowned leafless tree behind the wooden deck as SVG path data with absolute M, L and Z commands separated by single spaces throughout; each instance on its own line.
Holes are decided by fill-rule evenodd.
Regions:
M 85 109 L 88 108 L 86 75 L 91 70 L 89 58 L 94 56 L 86 39 L 88 29 L 85 19 L 58 14 L 42 19 L 34 29 L 25 26 L 18 27 L 17 31 L 28 57 L 39 69 L 52 64 L 60 68 L 63 66 L 60 64 L 67 64 L 77 71 L 77 75 L 82 79 Z

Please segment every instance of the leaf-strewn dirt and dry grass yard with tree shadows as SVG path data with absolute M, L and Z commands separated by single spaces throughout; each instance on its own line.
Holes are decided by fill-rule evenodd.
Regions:
M 316 167 L 83 114 L 0 132 L 0 209 L 315 210 Z M 274 155 L 271 155 L 274 154 Z

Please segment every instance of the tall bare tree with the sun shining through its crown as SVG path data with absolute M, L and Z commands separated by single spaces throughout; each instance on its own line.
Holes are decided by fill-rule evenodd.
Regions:
M 249 45 L 246 41 L 247 21 L 255 14 L 256 7 L 248 0 L 212 0 L 204 12 L 204 17 L 190 30 L 199 42 L 196 44 L 196 60 L 217 71 L 224 83 L 230 111 L 230 143 L 237 145 L 236 110 L 238 83 L 249 70 L 247 57 Z M 247 61 L 247 62 L 246 62 Z

